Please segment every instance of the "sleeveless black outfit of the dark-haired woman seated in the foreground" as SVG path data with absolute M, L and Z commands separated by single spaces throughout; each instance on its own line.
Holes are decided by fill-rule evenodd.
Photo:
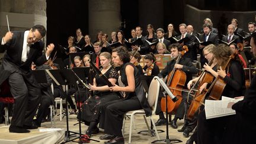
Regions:
M 132 63 L 125 63 L 121 70 L 121 81 L 125 86 L 128 85 L 126 77 L 126 66 Z M 134 65 L 132 65 L 135 68 Z M 135 92 L 126 92 L 126 97 L 123 100 L 111 101 L 105 104 L 105 133 L 114 136 L 123 136 L 121 129 L 123 126 L 123 117 L 127 111 L 142 109 L 146 116 L 151 116 L 152 111 L 146 99 L 145 91 L 143 91 L 140 74 L 137 69 L 134 69 L 135 76 Z

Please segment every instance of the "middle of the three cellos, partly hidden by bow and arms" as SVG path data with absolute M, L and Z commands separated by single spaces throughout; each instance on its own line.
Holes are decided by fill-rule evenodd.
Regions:
M 209 66 L 212 65 L 213 60 L 215 58 L 212 57 L 212 59 L 210 60 L 210 62 L 208 63 Z M 208 84 L 210 84 L 213 81 L 214 76 L 207 72 L 206 70 L 203 70 L 203 72 L 201 73 L 199 79 L 197 82 L 195 82 L 195 84 L 193 85 L 193 87 L 191 89 L 193 89 L 200 81 L 199 84 L 199 88 L 201 87 L 201 85 L 203 85 L 205 82 L 207 82 Z M 201 103 L 203 103 L 203 100 L 206 96 L 206 94 L 209 92 L 209 89 L 204 89 L 202 92 L 196 92 L 193 100 L 191 101 L 190 107 L 187 110 L 187 119 L 192 120 L 194 118 L 194 114 L 196 113 L 196 111 L 199 109 Z

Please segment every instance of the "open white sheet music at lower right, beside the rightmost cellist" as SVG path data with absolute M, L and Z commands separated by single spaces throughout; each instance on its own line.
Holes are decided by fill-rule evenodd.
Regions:
M 232 108 L 227 108 L 228 103 L 230 102 L 238 102 L 243 100 L 243 98 L 235 99 L 222 96 L 222 100 L 206 100 L 205 101 L 205 113 L 206 119 L 213 119 L 216 117 L 224 117 L 232 114 L 236 114 L 235 110 Z

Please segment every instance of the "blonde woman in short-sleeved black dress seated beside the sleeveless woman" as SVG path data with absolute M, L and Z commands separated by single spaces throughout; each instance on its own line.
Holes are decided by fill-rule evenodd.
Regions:
M 112 84 L 116 84 L 119 77 L 116 69 L 111 66 L 111 54 L 103 52 L 100 54 L 100 64 L 102 66 L 101 73 L 103 73 Z M 104 129 L 104 114 L 102 105 L 108 101 L 119 100 L 119 95 L 116 92 L 111 92 L 107 83 L 100 75 L 95 75 L 94 84 L 91 85 L 90 89 L 94 91 L 92 97 L 90 97 L 82 105 L 81 120 L 88 125 L 86 134 L 91 137 L 92 134 L 98 133 L 97 127 L 100 123 L 100 128 Z

